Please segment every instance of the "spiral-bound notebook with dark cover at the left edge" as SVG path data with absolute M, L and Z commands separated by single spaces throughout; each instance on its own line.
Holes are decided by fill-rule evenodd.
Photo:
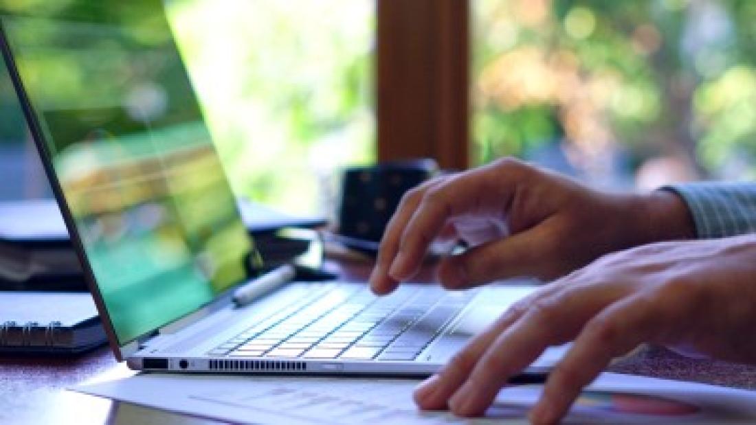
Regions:
M 91 294 L 0 292 L 0 353 L 73 354 L 106 340 Z

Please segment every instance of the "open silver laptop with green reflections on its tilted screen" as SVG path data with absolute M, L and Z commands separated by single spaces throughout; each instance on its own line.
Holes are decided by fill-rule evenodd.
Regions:
M 262 259 L 160 0 L 0 3 L 2 51 L 113 352 L 144 371 L 424 375 L 528 285 L 288 282 Z M 549 351 L 526 372 L 548 371 Z

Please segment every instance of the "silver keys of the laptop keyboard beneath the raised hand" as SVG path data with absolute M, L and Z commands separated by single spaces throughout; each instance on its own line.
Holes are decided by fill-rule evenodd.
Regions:
M 400 287 L 389 297 L 365 287 L 348 297 L 337 292 L 280 312 L 208 354 L 414 360 L 474 296 L 432 287 Z

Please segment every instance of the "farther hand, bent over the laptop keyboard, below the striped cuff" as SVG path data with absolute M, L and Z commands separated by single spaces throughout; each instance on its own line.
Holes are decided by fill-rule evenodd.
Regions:
M 438 267 L 445 288 L 465 289 L 517 276 L 556 279 L 612 251 L 693 236 L 689 211 L 673 192 L 598 192 L 501 159 L 407 192 L 384 233 L 370 286 L 388 294 L 412 279 L 435 239 L 472 246 Z

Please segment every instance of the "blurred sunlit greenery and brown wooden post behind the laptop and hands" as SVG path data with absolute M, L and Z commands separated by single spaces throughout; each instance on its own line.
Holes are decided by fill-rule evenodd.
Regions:
M 616 189 L 756 178 L 756 2 L 169 0 L 234 190 L 333 214 L 339 172 L 519 156 Z M 0 199 L 50 196 L 0 70 Z

